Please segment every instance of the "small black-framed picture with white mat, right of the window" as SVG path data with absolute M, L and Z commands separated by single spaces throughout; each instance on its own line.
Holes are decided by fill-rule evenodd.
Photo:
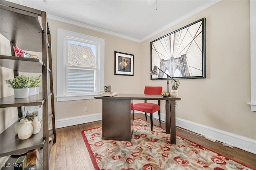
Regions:
M 132 75 L 134 55 L 114 51 L 114 75 Z

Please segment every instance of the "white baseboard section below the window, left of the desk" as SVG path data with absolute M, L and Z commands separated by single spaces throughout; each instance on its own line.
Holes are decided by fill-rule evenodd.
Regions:
M 69 127 L 73 125 L 80 125 L 83 123 L 89 123 L 89 122 L 95 122 L 95 121 L 101 121 L 101 120 L 102 120 L 101 113 L 95 113 L 92 115 L 69 117 L 65 119 L 56 119 L 55 127 L 56 128 Z

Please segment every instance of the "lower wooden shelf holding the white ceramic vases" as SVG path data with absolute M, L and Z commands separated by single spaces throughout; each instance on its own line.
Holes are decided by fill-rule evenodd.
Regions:
M 20 140 L 18 135 L 14 132 L 14 125 L 8 127 L 4 132 L 1 133 L 1 145 L 0 145 L 0 156 L 8 156 L 11 154 L 18 154 L 22 152 L 27 152 L 28 150 L 33 150 L 36 148 L 41 148 L 44 146 L 43 138 L 43 127 L 41 125 L 40 132 L 37 134 L 32 134 L 32 136 L 25 140 Z M 42 124 L 42 123 L 41 123 Z

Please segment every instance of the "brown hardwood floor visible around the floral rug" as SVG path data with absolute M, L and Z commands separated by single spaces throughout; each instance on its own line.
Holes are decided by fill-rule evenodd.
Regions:
M 134 119 L 145 119 L 145 115 L 137 113 Z M 148 117 L 150 121 L 150 117 Z M 154 119 L 154 125 L 165 128 L 165 123 L 159 125 L 159 121 Z M 94 170 L 90 155 L 81 135 L 82 130 L 102 126 L 102 121 L 85 123 L 71 127 L 56 129 L 56 144 L 52 146 L 50 156 L 50 170 Z M 176 134 L 197 144 L 205 146 L 211 150 L 224 154 L 238 162 L 256 168 L 256 155 L 238 148 L 223 146 L 222 143 L 212 142 L 198 134 L 190 133 L 176 127 Z

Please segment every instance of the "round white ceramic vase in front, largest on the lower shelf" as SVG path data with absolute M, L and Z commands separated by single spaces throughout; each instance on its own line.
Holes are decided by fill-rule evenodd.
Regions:
M 14 128 L 15 129 L 15 128 Z M 24 121 L 18 126 L 18 138 L 21 140 L 30 138 L 33 133 L 31 121 Z

